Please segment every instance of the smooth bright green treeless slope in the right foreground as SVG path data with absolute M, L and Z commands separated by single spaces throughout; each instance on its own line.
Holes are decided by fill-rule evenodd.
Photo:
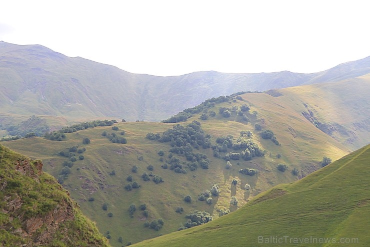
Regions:
M 368 246 L 370 145 L 204 225 L 133 246 Z

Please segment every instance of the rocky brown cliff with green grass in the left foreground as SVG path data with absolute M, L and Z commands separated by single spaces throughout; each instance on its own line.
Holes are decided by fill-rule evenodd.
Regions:
M 108 246 L 42 162 L 0 145 L 1 246 Z

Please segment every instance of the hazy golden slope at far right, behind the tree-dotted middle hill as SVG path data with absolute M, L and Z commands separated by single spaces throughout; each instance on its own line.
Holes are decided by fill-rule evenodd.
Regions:
M 305 104 L 318 127 L 355 150 L 370 140 L 370 75 L 336 83 L 280 89 L 290 100 Z

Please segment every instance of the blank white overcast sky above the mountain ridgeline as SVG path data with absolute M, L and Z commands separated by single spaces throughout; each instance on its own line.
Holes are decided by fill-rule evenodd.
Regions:
M 0 41 L 157 76 L 313 73 L 370 56 L 370 1 L 2 1 Z

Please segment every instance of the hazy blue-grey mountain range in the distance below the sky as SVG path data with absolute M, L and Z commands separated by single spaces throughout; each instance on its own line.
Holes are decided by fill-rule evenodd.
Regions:
M 97 118 L 160 121 L 211 97 L 341 81 L 369 72 L 367 57 L 312 74 L 207 71 L 159 77 L 66 57 L 40 45 L 0 42 L 0 124 L 5 129 L 32 115 L 46 119 L 50 128 Z

